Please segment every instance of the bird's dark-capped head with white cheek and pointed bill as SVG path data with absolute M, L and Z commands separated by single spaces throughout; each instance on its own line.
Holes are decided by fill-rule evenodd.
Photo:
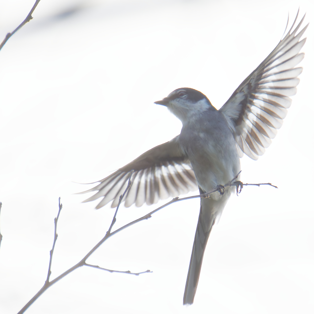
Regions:
M 178 88 L 155 104 L 166 106 L 182 122 L 214 108 L 204 94 L 192 88 Z

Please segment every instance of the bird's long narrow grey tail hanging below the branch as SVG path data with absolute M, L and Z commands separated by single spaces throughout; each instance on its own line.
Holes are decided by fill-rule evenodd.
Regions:
M 200 193 L 202 193 L 200 189 Z M 203 256 L 207 240 L 215 223 L 213 214 L 214 205 L 217 201 L 210 198 L 201 198 L 201 208 L 198 216 L 192 255 L 189 271 L 187 273 L 187 282 L 185 284 L 183 304 L 192 304 L 198 285 L 199 274 L 201 272 Z

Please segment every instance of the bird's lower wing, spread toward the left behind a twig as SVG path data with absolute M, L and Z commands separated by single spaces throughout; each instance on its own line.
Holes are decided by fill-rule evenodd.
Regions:
M 103 197 L 96 206 L 97 209 L 105 206 L 111 200 L 114 200 L 111 207 L 116 207 L 120 195 L 127 187 L 131 171 L 133 171 L 132 185 L 124 197 L 125 207 L 129 207 L 133 203 L 137 207 L 144 203 L 151 205 L 157 203 L 159 199 L 169 196 L 176 197 L 179 194 L 197 190 L 198 185 L 194 171 L 187 156 L 180 149 L 178 137 L 148 150 L 99 181 L 100 184 L 96 187 L 78 194 L 99 191 L 84 202 Z

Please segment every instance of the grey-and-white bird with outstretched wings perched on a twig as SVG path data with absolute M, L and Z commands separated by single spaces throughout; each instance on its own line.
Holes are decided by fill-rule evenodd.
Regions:
M 296 25 L 298 14 L 299 11 L 286 32 L 287 23 L 275 49 L 219 110 L 203 93 L 192 88 L 176 89 L 155 101 L 181 120 L 181 133 L 98 181 L 97 186 L 81 192 L 98 191 L 84 202 L 102 197 L 97 209 L 110 201 L 112 208 L 117 207 L 129 179 L 132 184 L 123 199 L 125 207 L 134 203 L 137 207 L 144 203 L 151 205 L 197 189 L 203 194 L 235 178 L 244 154 L 253 160 L 263 155 L 287 115 L 290 96 L 295 95 L 298 76 L 303 70 L 296 66 L 304 58 L 300 50 L 306 38 L 301 40 L 301 36 L 308 24 L 297 33 L 305 18 L 304 15 Z M 200 199 L 184 305 L 193 303 L 208 237 L 233 192 L 235 187 L 227 187 L 223 193 L 217 191 Z

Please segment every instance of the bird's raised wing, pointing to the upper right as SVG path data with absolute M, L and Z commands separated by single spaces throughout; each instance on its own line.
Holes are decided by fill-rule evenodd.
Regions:
M 305 17 L 292 31 L 298 14 L 287 35 L 219 110 L 227 118 L 242 156 L 245 153 L 257 160 L 264 154 L 287 115 L 292 102 L 289 96 L 296 93 L 302 68 L 295 66 L 304 57 L 299 51 L 306 41 L 300 38 L 308 26 L 295 35 Z

